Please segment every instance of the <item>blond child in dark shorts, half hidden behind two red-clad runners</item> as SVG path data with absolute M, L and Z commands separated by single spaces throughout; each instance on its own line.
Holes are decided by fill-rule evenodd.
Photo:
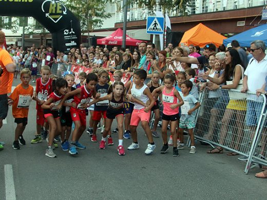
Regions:
M 67 86 L 67 93 L 75 90 L 76 88 L 72 87 L 74 84 L 74 75 L 67 74 L 65 76 L 65 80 L 68 83 Z M 74 96 L 70 96 L 66 99 L 63 103 L 63 107 L 61 109 L 61 126 L 62 126 L 62 133 L 61 133 L 61 148 L 63 151 L 69 150 L 69 136 L 71 133 L 71 126 L 72 126 L 72 119 L 70 114 L 70 107 L 75 108 L 77 105 L 73 102 Z

